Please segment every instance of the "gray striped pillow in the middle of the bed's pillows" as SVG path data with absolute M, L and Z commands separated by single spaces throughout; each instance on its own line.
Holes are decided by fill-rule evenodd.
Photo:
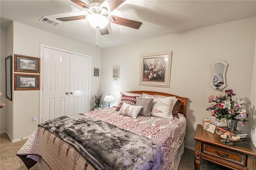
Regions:
M 139 115 L 150 117 L 150 109 L 154 99 L 142 99 L 136 97 L 136 106 L 142 106 Z

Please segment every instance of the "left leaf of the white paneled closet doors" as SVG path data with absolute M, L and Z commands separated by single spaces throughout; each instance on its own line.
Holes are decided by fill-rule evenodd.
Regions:
M 70 54 L 44 47 L 42 121 L 69 114 Z

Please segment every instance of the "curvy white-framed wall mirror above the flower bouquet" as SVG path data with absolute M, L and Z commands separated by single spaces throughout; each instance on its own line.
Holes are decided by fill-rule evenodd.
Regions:
M 221 90 L 226 87 L 226 69 L 228 63 L 223 60 L 217 60 L 212 63 L 212 79 L 210 86 L 215 90 Z

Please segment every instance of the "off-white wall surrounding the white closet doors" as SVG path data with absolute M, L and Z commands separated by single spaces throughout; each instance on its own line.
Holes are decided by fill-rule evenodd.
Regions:
M 100 67 L 101 51 L 97 47 L 92 47 L 19 22 L 13 22 L 13 56 L 14 54 L 19 54 L 40 57 L 41 43 L 91 55 L 92 73 L 93 67 Z M 91 95 L 96 93 L 99 84 L 100 77 L 91 76 Z M 39 106 L 39 90 L 13 92 L 13 135 L 10 136 L 11 140 L 30 136 L 36 130 L 37 124 L 32 124 L 32 117 L 39 117 Z

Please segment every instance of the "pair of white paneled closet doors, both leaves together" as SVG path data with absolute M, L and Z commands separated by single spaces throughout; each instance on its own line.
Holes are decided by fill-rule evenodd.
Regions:
M 42 121 L 89 110 L 89 57 L 44 47 Z

